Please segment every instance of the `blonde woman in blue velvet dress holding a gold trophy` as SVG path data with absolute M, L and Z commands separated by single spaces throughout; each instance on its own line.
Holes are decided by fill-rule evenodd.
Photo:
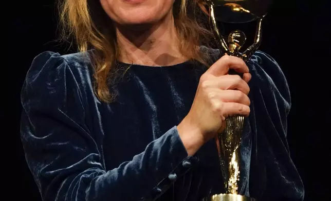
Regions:
M 222 193 L 213 137 L 233 114 L 249 116 L 240 193 L 303 199 L 286 142 L 290 94 L 281 69 L 263 52 L 248 65 L 218 59 L 218 50 L 199 44 L 208 32 L 195 5 L 64 2 L 62 21 L 81 51 L 36 56 L 22 90 L 22 142 L 43 200 Z M 230 68 L 243 78 L 228 75 Z

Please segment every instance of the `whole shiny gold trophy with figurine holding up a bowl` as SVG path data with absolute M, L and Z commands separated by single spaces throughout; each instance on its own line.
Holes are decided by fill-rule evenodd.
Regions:
M 242 58 L 245 62 L 261 44 L 262 20 L 271 6 L 271 0 L 199 0 L 199 6 L 209 16 L 216 45 L 223 55 Z M 217 28 L 220 23 L 248 23 L 257 21 L 254 43 L 244 52 L 241 47 L 246 42 L 246 35 L 240 30 L 232 31 L 226 43 Z M 229 74 L 236 74 L 230 70 Z M 244 116 L 234 115 L 226 119 L 226 128 L 216 137 L 222 176 L 225 182 L 225 194 L 205 197 L 203 201 L 255 201 L 256 199 L 238 194 L 240 180 L 240 146 L 244 128 Z

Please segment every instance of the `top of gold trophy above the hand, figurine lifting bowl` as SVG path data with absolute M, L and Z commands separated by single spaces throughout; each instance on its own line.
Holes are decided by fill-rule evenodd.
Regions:
M 262 20 L 271 7 L 272 0 L 197 0 L 201 10 L 209 16 L 211 29 L 217 47 L 223 54 L 237 56 L 245 62 L 261 44 Z M 239 52 L 246 42 L 246 35 L 240 30 L 229 34 L 228 43 L 220 34 L 216 22 L 248 23 L 257 21 L 254 43 L 244 52 Z

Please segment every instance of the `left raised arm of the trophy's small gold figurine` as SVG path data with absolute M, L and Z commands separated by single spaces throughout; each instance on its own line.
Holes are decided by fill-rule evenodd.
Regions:
M 209 5 L 209 13 L 210 13 L 209 21 L 210 21 L 210 25 L 212 26 L 214 36 L 216 37 L 216 43 L 217 43 L 218 49 L 223 54 L 227 53 L 228 55 L 230 55 L 231 52 L 229 50 L 229 47 L 226 44 L 226 42 L 225 42 L 224 38 L 222 37 L 222 35 L 220 35 L 220 33 L 218 31 L 213 4 L 211 2 L 209 2 L 208 5 Z

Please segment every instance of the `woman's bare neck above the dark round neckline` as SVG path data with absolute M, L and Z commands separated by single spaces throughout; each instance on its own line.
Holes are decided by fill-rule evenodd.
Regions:
M 180 53 L 180 40 L 172 12 L 161 22 L 137 28 L 117 27 L 119 61 L 144 66 L 170 66 L 187 61 Z

